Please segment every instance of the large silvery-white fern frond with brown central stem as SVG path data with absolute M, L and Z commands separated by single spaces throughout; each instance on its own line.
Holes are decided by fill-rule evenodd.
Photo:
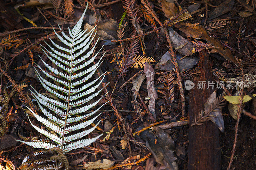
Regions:
M 99 52 L 91 58 L 88 58 L 92 55 L 97 42 L 91 49 L 89 49 L 89 52 L 87 54 L 83 54 L 90 47 L 94 36 L 96 35 L 96 33 L 93 35 L 95 28 L 93 28 L 88 33 L 86 33 L 87 30 L 81 29 L 85 11 L 81 18 L 78 20 L 77 24 L 74 26 L 74 28 L 71 30 L 68 28 L 70 36 L 67 36 L 64 32 L 61 32 L 63 36 L 61 37 L 54 30 L 56 36 L 64 45 L 66 45 L 66 47 L 63 47 L 64 45 L 60 46 L 56 44 L 51 39 L 50 41 L 52 42 L 53 46 L 55 48 L 58 48 L 59 50 L 51 47 L 46 42 L 45 43 L 51 50 L 48 50 L 47 48 L 42 46 L 45 55 L 49 58 L 49 60 L 52 61 L 52 63 L 62 69 L 61 71 L 48 65 L 39 56 L 43 61 L 44 65 L 54 74 L 49 74 L 37 65 L 38 68 L 45 74 L 45 76 L 50 78 L 50 81 L 43 78 L 37 70 L 36 75 L 45 90 L 51 92 L 60 100 L 58 101 L 42 95 L 32 87 L 33 91 L 31 92 L 34 95 L 40 110 L 44 114 L 44 117 L 36 114 L 32 111 L 32 109 L 28 109 L 32 112 L 34 117 L 39 122 L 43 123 L 47 127 L 47 130 L 37 127 L 30 121 L 29 117 L 28 119 L 31 125 L 39 133 L 50 138 L 54 142 L 52 143 L 52 141 L 50 140 L 48 140 L 48 142 L 40 140 L 34 140 L 31 142 L 20 142 L 28 144 L 29 146 L 32 146 L 34 148 L 50 149 L 53 147 L 59 147 L 65 153 L 73 149 L 88 146 L 101 136 L 99 135 L 94 138 L 84 139 L 85 136 L 90 134 L 96 128 L 99 122 L 91 129 L 82 130 L 90 125 L 94 120 L 96 120 L 100 114 L 87 121 L 85 121 L 84 119 L 88 118 L 91 115 L 94 115 L 104 105 L 100 106 L 92 113 L 84 114 L 84 112 L 94 107 L 102 99 L 103 96 L 99 100 L 94 101 L 90 104 L 86 103 L 95 98 L 102 91 L 102 89 L 105 88 L 103 87 L 98 92 L 95 92 L 96 89 L 100 86 L 102 80 L 104 79 L 104 74 L 102 74 L 104 76 L 101 75 L 99 78 L 90 81 L 89 83 L 86 82 L 92 77 L 92 75 L 102 63 L 101 59 L 103 56 L 95 64 L 93 64 L 92 62 L 94 61 L 95 57 Z M 68 54 L 66 54 L 65 52 Z M 59 85 L 51 82 L 51 79 L 54 82 L 59 83 Z

